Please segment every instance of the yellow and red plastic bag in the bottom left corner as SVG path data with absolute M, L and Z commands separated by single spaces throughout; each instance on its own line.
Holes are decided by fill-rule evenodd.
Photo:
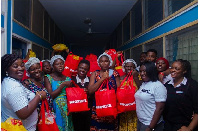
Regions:
M 2 131 L 27 131 L 19 119 L 8 118 L 5 122 L 1 123 Z

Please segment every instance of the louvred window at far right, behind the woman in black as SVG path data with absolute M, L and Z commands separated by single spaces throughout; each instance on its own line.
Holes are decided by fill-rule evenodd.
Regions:
M 188 60 L 192 67 L 192 78 L 198 80 L 198 27 L 193 26 L 166 38 L 166 58 L 170 64 L 177 60 Z

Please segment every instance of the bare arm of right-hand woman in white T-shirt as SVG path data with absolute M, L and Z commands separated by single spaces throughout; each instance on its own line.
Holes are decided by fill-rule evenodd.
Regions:
M 156 110 L 153 114 L 151 123 L 150 123 L 149 127 L 146 129 L 146 131 L 151 131 L 151 129 L 153 129 L 156 126 L 156 124 L 159 121 L 160 116 L 164 110 L 164 106 L 165 106 L 165 102 L 156 102 Z

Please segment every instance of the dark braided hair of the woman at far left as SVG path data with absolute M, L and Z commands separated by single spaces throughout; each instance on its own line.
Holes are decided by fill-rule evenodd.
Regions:
M 16 54 L 5 54 L 1 57 L 1 81 L 6 76 L 8 68 L 19 58 Z

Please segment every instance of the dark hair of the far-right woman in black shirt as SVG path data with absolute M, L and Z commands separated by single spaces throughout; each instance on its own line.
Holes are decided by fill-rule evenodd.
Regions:
M 191 78 L 191 64 L 189 61 L 187 60 L 183 60 L 183 59 L 177 59 L 174 62 L 180 62 L 182 65 L 182 68 L 184 71 L 186 71 L 186 73 L 184 74 L 184 77 L 190 79 Z

